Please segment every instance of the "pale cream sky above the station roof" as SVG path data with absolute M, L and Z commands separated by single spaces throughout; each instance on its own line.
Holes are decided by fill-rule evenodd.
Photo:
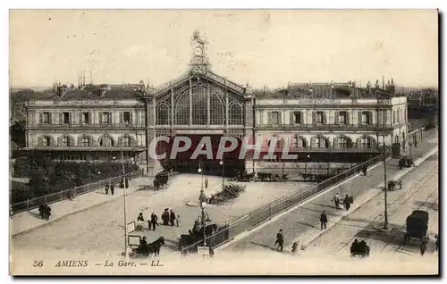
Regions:
M 155 87 L 187 71 L 195 29 L 215 73 L 254 88 L 288 82 L 438 86 L 435 10 L 12 10 L 10 85 Z M 89 82 L 89 72 L 86 77 Z

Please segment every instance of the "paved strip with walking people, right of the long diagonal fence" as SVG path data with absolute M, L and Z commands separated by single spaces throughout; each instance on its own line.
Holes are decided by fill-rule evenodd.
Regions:
M 418 157 L 421 157 L 436 145 L 436 139 L 427 137 L 424 143 L 420 143 L 417 148 L 413 149 L 413 159 L 416 160 Z M 387 162 L 387 175 L 389 178 L 400 171 L 398 170 L 397 163 L 397 160 Z M 265 227 L 255 231 L 248 237 L 232 243 L 232 245 L 224 248 L 223 251 L 237 253 L 249 251 L 252 253 L 255 251 L 274 250 L 275 236 L 280 229 L 283 229 L 284 231 L 284 248 L 290 250 L 291 243 L 294 240 L 299 239 L 304 235 L 308 235 L 311 231 L 320 230 L 319 214 L 322 211 L 326 212 L 329 220 L 341 214 L 333 207 L 332 198 L 335 192 L 338 192 L 340 196 L 349 194 L 356 198 L 356 196 L 362 196 L 367 193 L 369 189 L 375 188 L 383 182 L 383 179 L 384 167 L 375 167 L 375 169 L 368 171 L 366 177 L 359 176 L 327 194 L 316 197 L 316 199 L 312 200 L 307 205 L 300 206 L 291 213 L 287 213 L 279 220 L 266 224 Z

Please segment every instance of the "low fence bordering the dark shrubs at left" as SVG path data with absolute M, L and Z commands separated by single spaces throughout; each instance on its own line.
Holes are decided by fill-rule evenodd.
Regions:
M 92 182 L 80 187 L 72 188 L 72 189 L 66 189 L 63 191 L 59 191 L 50 195 L 41 196 L 38 198 L 32 198 L 28 199 L 27 201 L 22 201 L 16 204 L 11 205 L 13 213 L 21 213 L 25 211 L 29 211 L 34 208 L 38 208 L 39 205 L 42 204 L 42 202 L 45 202 L 46 204 L 52 204 L 55 202 L 63 201 L 65 199 L 69 199 L 69 194 L 72 196 L 79 196 L 82 194 L 86 194 L 92 191 L 96 191 L 99 188 L 105 188 L 106 184 L 115 184 L 119 183 L 122 179 L 122 177 L 128 176 L 126 175 L 120 175 L 117 177 L 109 178 L 107 180 L 99 180 L 96 182 Z M 144 176 L 144 169 L 141 169 L 139 171 L 132 171 L 131 172 L 131 180 L 137 179 Z

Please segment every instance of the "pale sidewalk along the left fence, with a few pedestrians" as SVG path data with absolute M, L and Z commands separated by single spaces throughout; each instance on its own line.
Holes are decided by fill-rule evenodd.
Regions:
M 148 184 L 151 185 L 152 180 L 153 178 L 151 177 L 142 177 L 131 180 L 129 188 L 127 188 L 127 193 L 130 194 L 131 192 L 139 190 L 139 188 L 143 186 Z M 15 236 L 17 234 L 25 233 L 53 221 L 60 220 L 69 214 L 78 213 L 96 205 L 102 205 L 118 197 L 122 197 L 122 188 L 115 187 L 114 196 L 111 195 L 110 191 L 108 195 L 105 195 L 104 188 L 100 188 L 96 191 L 76 196 L 74 200 L 57 202 L 50 205 L 51 217 L 49 221 L 40 218 L 38 208 L 14 214 L 10 219 L 10 235 Z

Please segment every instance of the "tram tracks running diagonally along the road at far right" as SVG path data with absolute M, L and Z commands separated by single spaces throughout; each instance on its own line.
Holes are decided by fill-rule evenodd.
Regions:
M 405 190 L 405 192 L 401 194 L 401 196 L 398 196 L 394 201 L 392 201 L 391 204 L 388 204 L 388 216 L 392 216 L 394 213 L 397 213 L 398 210 L 400 210 L 401 207 L 405 205 L 412 196 L 417 194 L 420 188 L 424 187 L 437 174 L 438 174 L 437 172 L 433 171 L 430 172 L 428 175 L 422 177 L 420 180 L 417 180 L 415 184 L 413 184 L 409 189 Z M 437 189 L 434 190 L 434 192 L 436 191 Z M 434 192 L 431 194 L 431 196 L 434 194 Z M 371 239 L 372 235 L 377 230 L 374 226 L 375 223 L 382 221 L 383 219 L 384 219 L 384 211 L 381 211 L 380 213 L 375 215 L 372 221 L 369 221 L 367 223 L 367 226 L 365 228 L 371 229 L 371 231 L 367 234 L 366 238 L 363 238 L 365 241 Z M 350 245 L 350 243 L 352 243 L 352 241 L 355 238 L 358 238 L 357 234 L 352 238 L 350 238 L 346 243 L 344 243 L 335 253 L 333 253 L 333 255 L 340 253 L 342 249 Z M 381 252 L 383 250 L 384 249 L 382 249 Z

